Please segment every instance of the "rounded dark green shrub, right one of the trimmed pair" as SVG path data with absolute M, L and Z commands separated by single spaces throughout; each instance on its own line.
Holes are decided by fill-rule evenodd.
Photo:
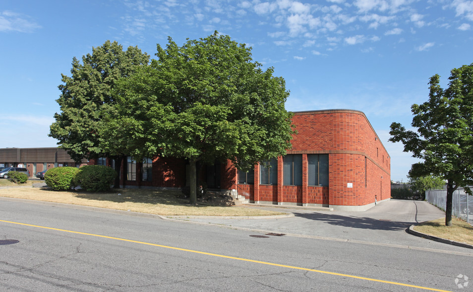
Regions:
M 75 184 L 90 192 L 105 192 L 113 185 L 117 172 L 105 165 L 86 165 L 79 168 Z

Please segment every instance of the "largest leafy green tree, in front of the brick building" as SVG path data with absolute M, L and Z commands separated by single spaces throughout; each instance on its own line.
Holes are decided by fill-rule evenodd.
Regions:
M 182 46 L 169 38 L 157 51 L 158 60 L 121 80 L 118 111 L 104 130 L 125 137 L 137 157 L 186 158 L 191 204 L 197 163 L 231 159 L 249 169 L 291 147 L 285 81 L 252 62 L 251 48 L 215 32 Z

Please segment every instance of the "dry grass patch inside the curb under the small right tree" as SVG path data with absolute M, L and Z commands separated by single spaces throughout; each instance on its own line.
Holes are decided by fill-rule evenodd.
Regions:
M 416 225 L 414 230 L 432 236 L 473 244 L 473 226 L 458 218 L 452 218 L 452 226 L 445 226 L 445 218 L 440 218 L 422 222 Z

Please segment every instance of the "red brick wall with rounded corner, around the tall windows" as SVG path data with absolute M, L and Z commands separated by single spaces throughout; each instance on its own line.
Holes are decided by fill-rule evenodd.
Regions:
M 302 154 L 302 186 L 283 185 L 279 157 L 277 186 L 258 185 L 259 168 L 255 167 L 255 201 L 272 198 L 272 202 L 283 204 L 364 206 L 374 203 L 375 196 L 378 201 L 390 198 L 390 157 L 362 112 L 296 112 L 293 124 L 298 134 L 293 136 L 288 154 Z M 307 154 L 316 153 L 329 154 L 328 187 L 307 185 Z M 245 187 L 237 188 L 239 192 Z

